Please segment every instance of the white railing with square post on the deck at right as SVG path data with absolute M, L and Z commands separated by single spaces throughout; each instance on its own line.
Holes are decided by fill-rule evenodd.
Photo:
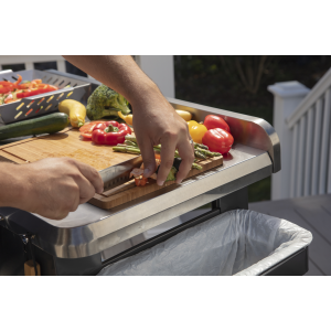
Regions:
M 288 107 L 291 109 L 287 116 L 281 108 L 293 98 L 290 90 L 285 98 L 277 94 L 277 84 L 268 87 L 275 95 L 275 129 L 280 140 L 281 135 L 286 137 L 280 142 L 282 170 L 273 179 L 273 199 L 331 193 L 331 70 L 310 92 L 298 82 L 291 84 L 300 87 L 302 94 L 295 107 L 293 103 Z M 282 104 L 277 106 L 276 98 Z

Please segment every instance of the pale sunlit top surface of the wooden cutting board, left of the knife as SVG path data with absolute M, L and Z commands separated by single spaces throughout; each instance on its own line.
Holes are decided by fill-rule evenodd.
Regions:
M 21 164 L 45 158 L 68 157 L 100 171 L 136 156 L 113 152 L 110 146 L 95 145 L 90 140 L 84 140 L 77 129 L 67 128 L 55 135 L 0 146 L 0 157 Z

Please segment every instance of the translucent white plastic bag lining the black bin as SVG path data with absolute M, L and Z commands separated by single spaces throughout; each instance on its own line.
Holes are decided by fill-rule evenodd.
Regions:
M 310 245 L 310 232 L 237 210 L 104 268 L 98 276 L 258 276 Z

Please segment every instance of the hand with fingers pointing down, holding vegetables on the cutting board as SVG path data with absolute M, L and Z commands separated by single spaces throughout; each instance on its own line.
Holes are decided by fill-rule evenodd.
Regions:
M 163 185 L 173 164 L 178 149 L 182 162 L 177 174 L 177 183 L 188 175 L 194 161 L 194 147 L 190 143 L 188 124 L 175 113 L 159 90 L 151 89 L 138 102 L 131 102 L 134 108 L 134 129 L 141 150 L 145 177 L 156 171 L 153 146 L 161 143 L 161 167 L 158 184 Z

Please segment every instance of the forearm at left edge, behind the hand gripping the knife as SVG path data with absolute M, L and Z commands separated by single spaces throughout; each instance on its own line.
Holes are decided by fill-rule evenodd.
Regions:
M 20 207 L 26 183 L 19 183 L 20 166 L 0 162 L 0 207 Z

